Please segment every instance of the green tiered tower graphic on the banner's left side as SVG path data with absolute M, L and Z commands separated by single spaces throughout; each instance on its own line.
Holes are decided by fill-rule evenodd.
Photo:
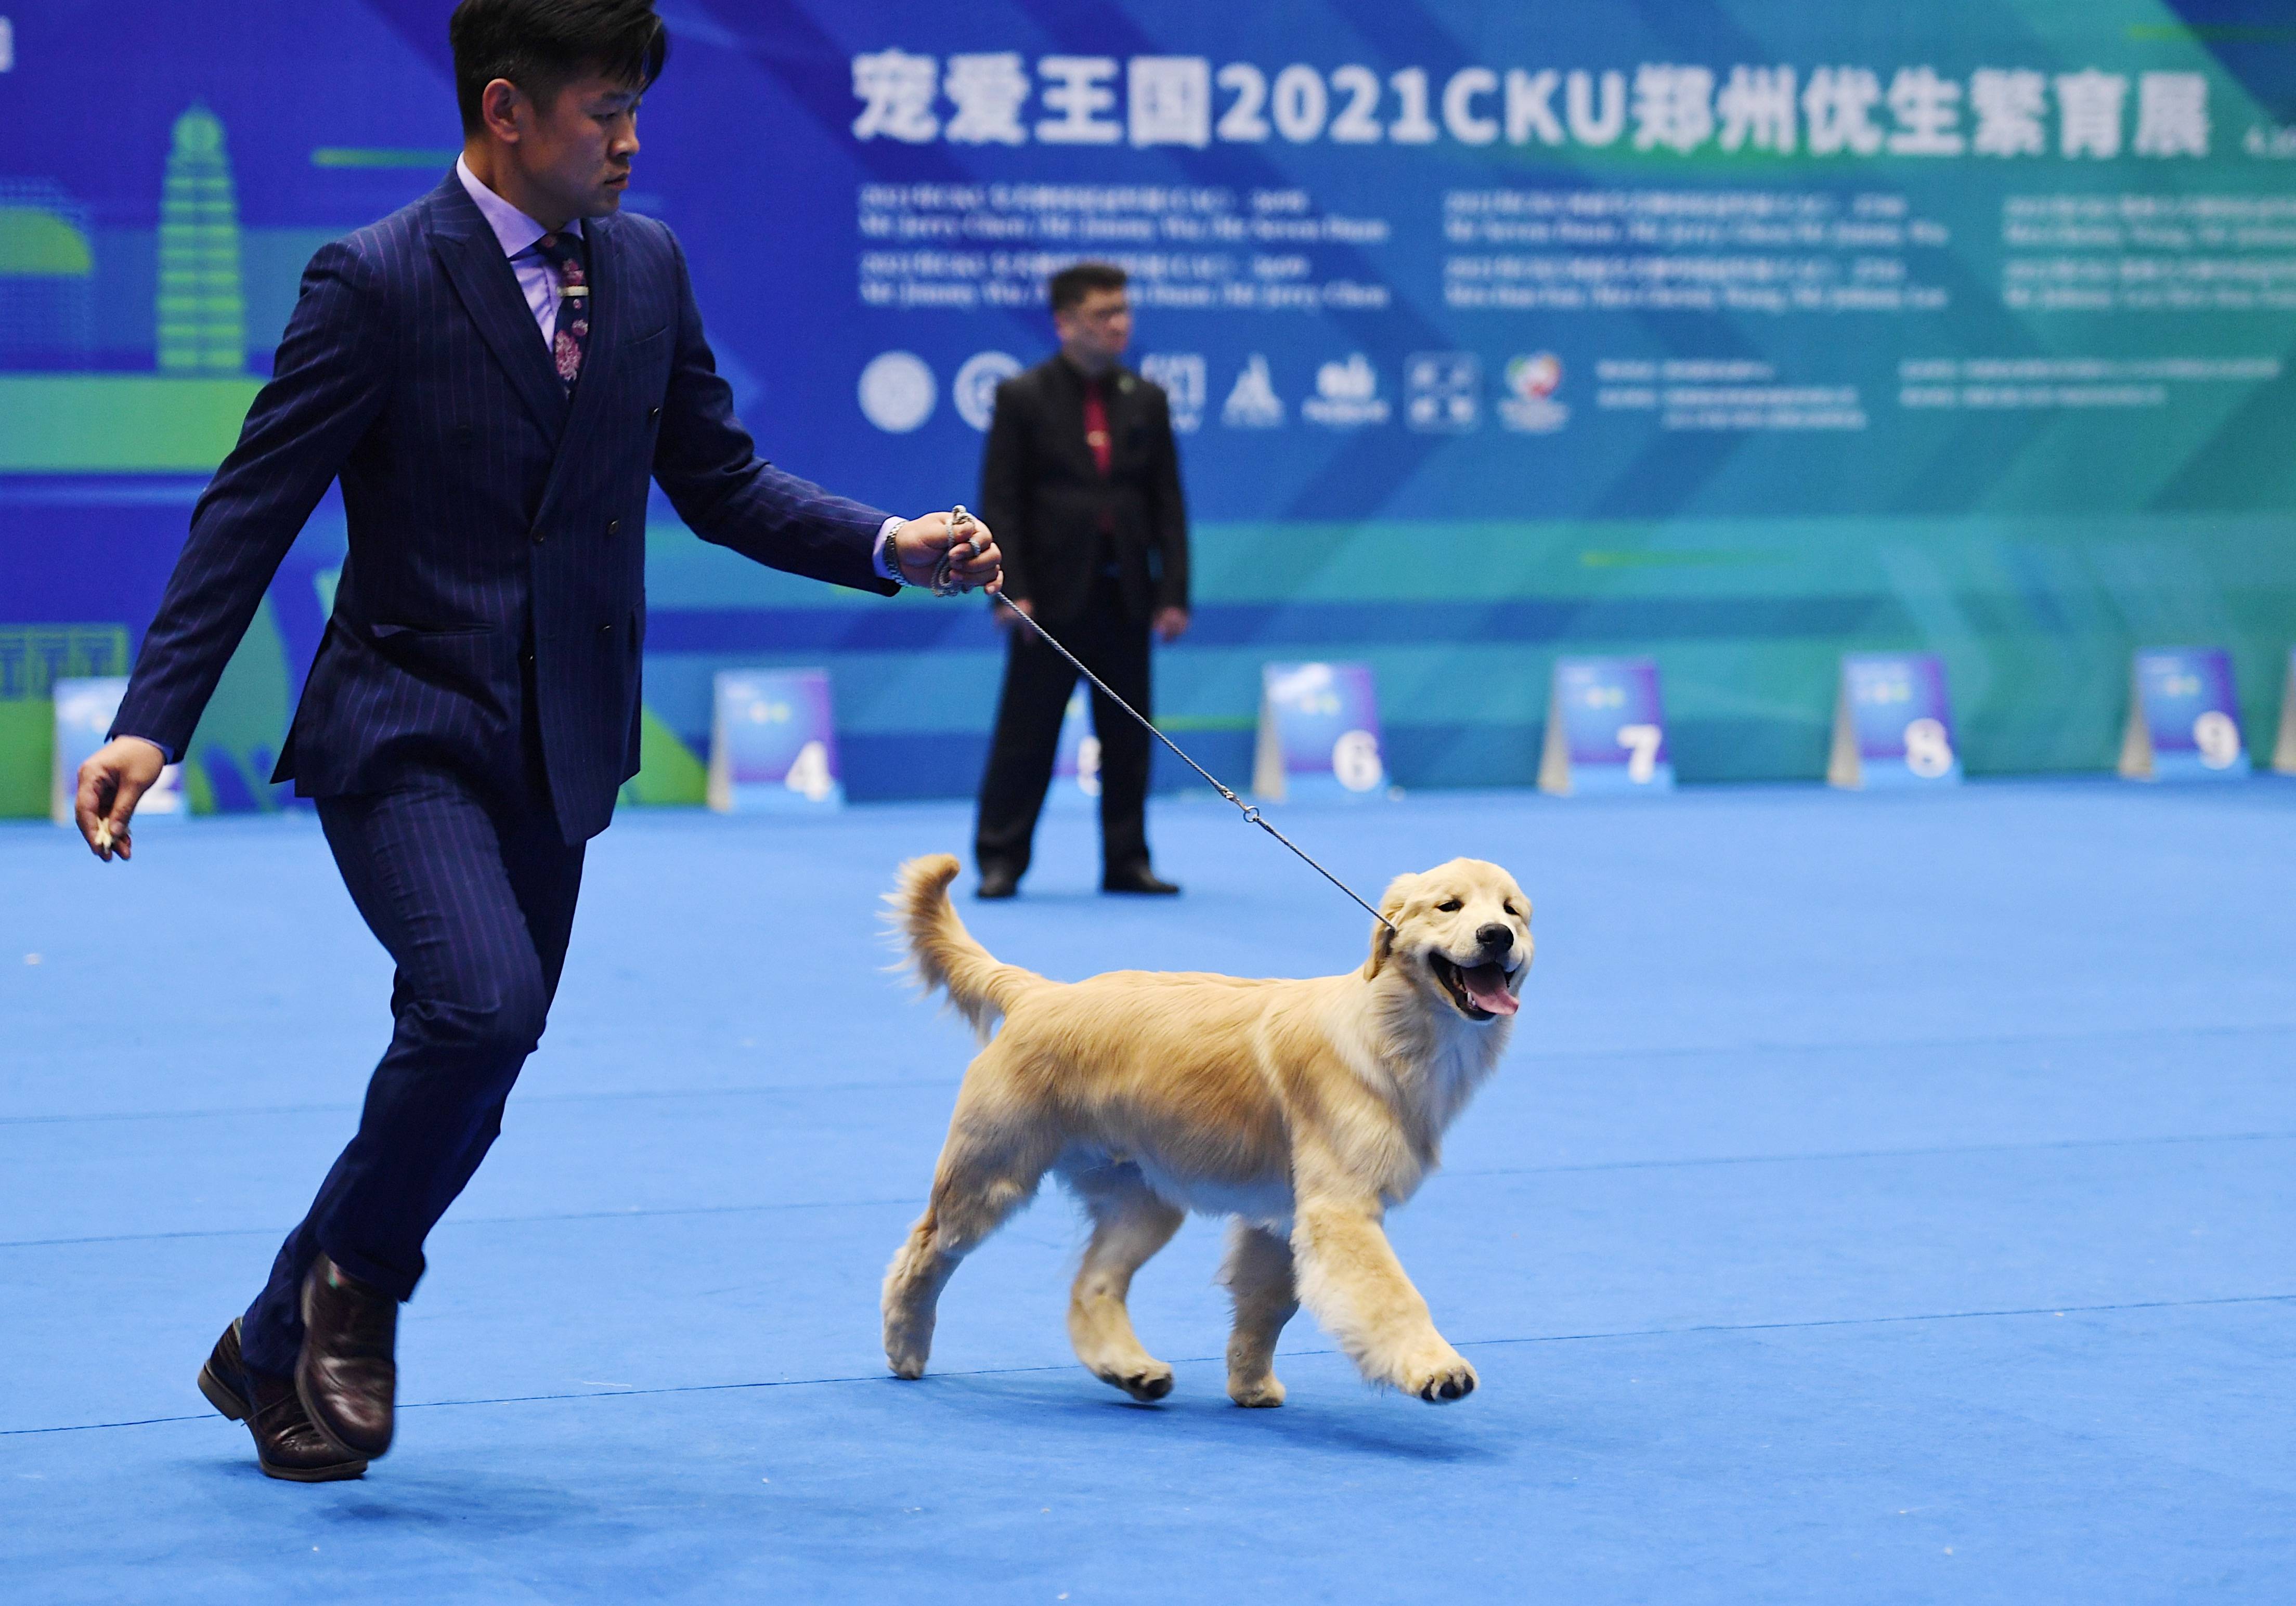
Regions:
M 223 124 L 195 103 L 174 119 L 158 202 L 158 369 L 239 374 L 246 365 L 232 158 L 223 149 Z

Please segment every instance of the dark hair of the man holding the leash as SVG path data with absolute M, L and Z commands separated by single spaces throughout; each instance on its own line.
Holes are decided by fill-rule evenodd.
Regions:
M 464 133 L 484 126 L 480 101 L 496 78 L 549 110 L 583 73 L 645 89 L 670 55 L 654 0 L 461 0 L 445 32 Z

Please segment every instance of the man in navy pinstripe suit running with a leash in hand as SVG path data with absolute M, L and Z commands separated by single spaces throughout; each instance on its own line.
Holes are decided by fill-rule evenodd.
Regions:
M 342 480 L 349 558 L 276 780 L 317 798 L 397 961 L 358 1133 L 200 1372 L 273 1478 L 388 1450 L 397 1305 L 501 1131 L 565 961 L 583 842 L 638 769 L 645 500 L 703 539 L 891 594 L 980 532 L 902 521 L 771 468 L 732 415 L 677 239 L 615 216 L 652 0 L 461 0 L 464 156 L 303 275 L 273 381 L 191 516 L 113 739 L 80 771 L 99 858 L 191 746 L 310 509 Z

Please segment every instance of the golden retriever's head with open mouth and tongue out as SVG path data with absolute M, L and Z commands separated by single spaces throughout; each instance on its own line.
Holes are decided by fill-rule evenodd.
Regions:
M 1396 876 L 1371 927 L 1364 980 L 1403 973 L 1460 1019 L 1488 1026 L 1515 1012 L 1531 968 L 1531 899 L 1515 879 L 1481 858 Z

